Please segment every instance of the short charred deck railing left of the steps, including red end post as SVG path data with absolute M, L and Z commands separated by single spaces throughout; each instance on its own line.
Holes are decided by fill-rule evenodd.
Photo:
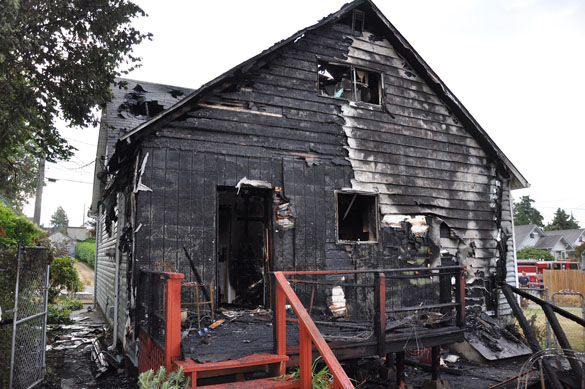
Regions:
M 172 369 L 181 356 L 182 273 L 141 270 L 138 281 L 136 323 L 138 371 Z

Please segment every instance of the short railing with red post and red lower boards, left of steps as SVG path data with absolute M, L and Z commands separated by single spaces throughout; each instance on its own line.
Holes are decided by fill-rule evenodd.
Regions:
M 151 317 L 154 315 L 162 316 L 160 319 L 164 325 L 164 337 L 163 342 L 155 340 L 156 337 L 149 334 L 151 326 L 139 323 L 138 372 L 142 373 L 150 369 L 157 371 L 160 366 L 171 371 L 173 360 L 181 357 L 181 281 L 184 275 L 170 272 L 143 272 L 149 273 L 150 278 L 148 279 L 150 281 L 152 281 L 152 277 L 156 277 L 163 284 L 162 306 L 157 305 L 159 308 L 157 311 L 160 312 L 148 312 L 148 315 Z M 143 278 L 141 281 L 145 282 L 145 279 Z M 153 292 L 156 285 L 148 282 L 143 287 Z M 148 293 L 143 294 L 146 296 L 140 296 L 140 298 L 149 296 Z M 150 307 L 150 301 L 139 301 L 139 304 L 147 309 Z M 148 315 L 146 316 L 148 317 Z

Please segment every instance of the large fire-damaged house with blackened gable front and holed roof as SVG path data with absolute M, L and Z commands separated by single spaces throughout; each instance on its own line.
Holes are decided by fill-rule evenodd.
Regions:
M 370 1 L 196 91 L 127 82 L 92 205 L 97 304 L 125 347 L 137 271 L 192 280 L 183 247 L 219 305 L 268 306 L 246 291 L 271 270 L 455 263 L 470 310 L 509 313 L 496 283 L 516 282 L 510 191 L 528 184 Z

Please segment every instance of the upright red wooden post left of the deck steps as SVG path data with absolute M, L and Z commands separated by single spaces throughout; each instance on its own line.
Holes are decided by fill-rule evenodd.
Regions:
M 182 273 L 167 275 L 165 368 L 171 371 L 173 360 L 181 357 L 181 280 L 185 276 Z

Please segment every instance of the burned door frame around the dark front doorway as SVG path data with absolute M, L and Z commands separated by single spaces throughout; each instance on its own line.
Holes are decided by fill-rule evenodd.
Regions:
M 232 214 L 232 212 L 234 212 L 233 206 L 232 209 L 230 210 L 230 221 L 229 221 L 229 236 L 230 236 L 230 242 L 229 242 L 229 246 L 230 249 L 228 250 L 228 258 L 224 259 L 225 265 L 228 267 L 228 272 L 224 273 L 226 274 L 225 276 L 220 275 L 220 258 L 221 258 L 221 247 L 220 247 L 220 231 L 222 228 L 222 224 L 220 223 L 220 219 L 221 219 L 221 212 L 222 212 L 222 205 L 224 205 L 225 203 L 222 203 L 220 201 L 220 193 L 221 192 L 233 192 L 235 193 L 236 197 L 239 195 L 239 192 L 241 192 L 242 190 L 248 190 L 248 191 L 252 191 L 254 193 L 256 193 L 258 196 L 263 197 L 263 211 L 264 211 L 264 215 L 263 215 L 263 230 L 264 230 L 264 236 L 263 236 L 263 247 L 262 247 L 262 252 L 263 252 L 263 271 L 262 271 L 262 288 L 263 288 L 263 296 L 262 296 L 262 302 L 261 305 L 264 307 L 268 307 L 270 306 L 270 293 L 271 293 L 271 280 L 269 277 L 269 272 L 271 271 L 271 269 L 273 268 L 273 262 L 274 262 L 274 249 L 273 249 L 273 226 L 274 226 L 274 190 L 272 188 L 268 189 L 268 188 L 256 188 L 253 186 L 243 186 L 241 188 L 236 188 L 235 186 L 229 186 L 229 185 L 218 185 L 216 187 L 216 229 L 215 229 L 215 233 L 216 233 L 216 240 L 215 240 L 215 282 L 218 288 L 218 292 L 216 293 L 216 304 L 217 306 L 219 306 L 220 304 L 226 304 L 228 303 L 228 291 L 224 290 L 225 289 L 225 283 L 226 280 L 228 283 L 231 283 L 229 281 L 229 260 L 231 259 L 230 257 L 233 257 L 233 250 L 231 248 L 233 242 L 231 241 L 231 236 L 233 233 L 233 222 L 234 222 L 234 217 L 235 215 Z M 223 277 L 223 282 L 220 283 L 221 279 Z M 221 293 L 219 292 L 219 290 L 222 290 L 223 292 L 223 299 L 221 298 Z M 234 296 L 234 298 L 237 297 L 237 294 Z M 233 300 L 232 300 L 233 301 Z M 231 303 L 231 302 L 229 302 Z

